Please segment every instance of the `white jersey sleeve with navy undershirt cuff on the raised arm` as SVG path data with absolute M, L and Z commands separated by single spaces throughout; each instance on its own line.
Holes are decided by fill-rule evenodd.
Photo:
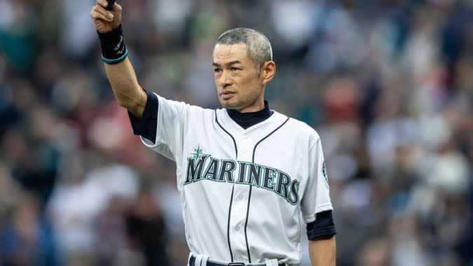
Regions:
M 184 132 L 191 106 L 146 91 L 148 100 L 141 119 L 131 113 L 133 132 L 153 151 L 178 162 L 184 141 Z

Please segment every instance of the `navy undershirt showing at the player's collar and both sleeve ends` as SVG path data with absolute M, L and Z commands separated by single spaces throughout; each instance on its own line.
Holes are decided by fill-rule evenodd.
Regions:
M 158 118 L 158 97 L 153 92 L 145 90 L 148 95 L 142 118 L 137 118 L 128 112 L 133 134 L 140 135 L 153 143 L 156 141 L 156 127 Z M 252 125 L 270 118 L 274 111 L 269 109 L 268 102 L 264 101 L 264 108 L 251 113 L 240 113 L 234 109 L 226 109 L 228 116 L 245 130 Z M 322 211 L 316 214 L 316 219 L 307 224 L 307 237 L 310 240 L 329 238 L 336 234 L 332 211 Z

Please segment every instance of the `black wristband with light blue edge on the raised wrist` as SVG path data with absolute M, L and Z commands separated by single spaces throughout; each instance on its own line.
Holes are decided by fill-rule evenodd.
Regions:
M 112 31 L 100 33 L 100 47 L 102 48 L 102 60 L 108 64 L 115 64 L 123 61 L 128 55 L 128 50 L 123 38 L 121 25 Z

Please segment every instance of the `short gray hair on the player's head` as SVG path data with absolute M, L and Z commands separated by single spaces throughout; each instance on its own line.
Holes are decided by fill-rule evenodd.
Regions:
M 264 63 L 273 60 L 273 49 L 268 38 L 254 29 L 229 29 L 217 39 L 217 44 L 238 43 L 245 43 L 247 45 L 247 56 L 254 62 L 258 73 Z

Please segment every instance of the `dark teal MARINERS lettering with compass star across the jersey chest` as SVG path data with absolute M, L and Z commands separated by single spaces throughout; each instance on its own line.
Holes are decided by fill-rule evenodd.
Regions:
M 222 160 L 204 153 L 197 146 L 187 158 L 187 172 L 184 186 L 202 180 L 239 183 L 256 188 L 273 191 L 284 198 L 289 204 L 299 203 L 300 181 L 292 179 L 289 174 L 253 162 Z

